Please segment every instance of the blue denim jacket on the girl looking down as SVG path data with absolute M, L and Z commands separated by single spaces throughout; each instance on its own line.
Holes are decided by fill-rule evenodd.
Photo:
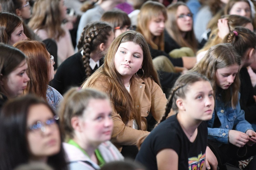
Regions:
M 217 143 L 228 143 L 229 130 L 243 133 L 249 129 L 253 130 L 252 125 L 244 119 L 244 111 L 241 110 L 239 102 L 234 109 L 231 106 L 225 106 L 221 100 L 221 95 L 216 95 L 214 112 L 217 113 L 221 125 L 219 127 L 214 126 L 215 114 L 213 113 L 212 119 L 207 122 L 209 140 Z

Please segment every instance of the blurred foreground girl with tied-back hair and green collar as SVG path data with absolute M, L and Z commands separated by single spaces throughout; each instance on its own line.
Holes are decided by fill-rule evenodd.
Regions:
M 109 97 L 95 89 L 71 88 L 59 109 L 70 170 L 100 169 L 124 157 L 109 141 L 113 131 Z

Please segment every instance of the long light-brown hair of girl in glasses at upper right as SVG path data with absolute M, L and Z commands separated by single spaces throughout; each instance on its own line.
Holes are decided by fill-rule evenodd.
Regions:
M 177 25 L 177 9 L 179 6 L 188 6 L 184 2 L 176 2 L 167 6 L 168 20 L 166 21 L 166 31 L 171 35 L 171 37 L 179 44 L 181 47 L 189 47 L 193 49 L 196 53 L 197 51 L 197 40 L 194 34 L 194 29 L 192 27 L 191 31 L 188 31 L 185 37 L 182 37 L 181 31 Z M 189 8 L 188 8 L 189 10 Z M 190 11 L 190 10 L 189 10 Z

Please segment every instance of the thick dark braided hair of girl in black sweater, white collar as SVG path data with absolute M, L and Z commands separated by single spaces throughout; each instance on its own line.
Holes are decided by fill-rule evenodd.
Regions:
M 81 34 L 77 48 L 83 51 L 82 62 L 85 68 L 85 75 L 89 77 L 93 70 L 89 66 L 90 53 L 97 49 L 101 43 L 106 43 L 112 31 L 111 26 L 103 21 L 96 21 L 87 24 Z

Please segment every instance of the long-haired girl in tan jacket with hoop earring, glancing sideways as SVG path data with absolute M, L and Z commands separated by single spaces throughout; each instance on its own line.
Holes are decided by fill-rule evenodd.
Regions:
M 136 157 L 137 140 L 159 121 L 167 101 L 143 35 L 126 31 L 115 38 L 104 64 L 83 84 L 110 96 L 114 130 L 111 141 L 124 156 Z

